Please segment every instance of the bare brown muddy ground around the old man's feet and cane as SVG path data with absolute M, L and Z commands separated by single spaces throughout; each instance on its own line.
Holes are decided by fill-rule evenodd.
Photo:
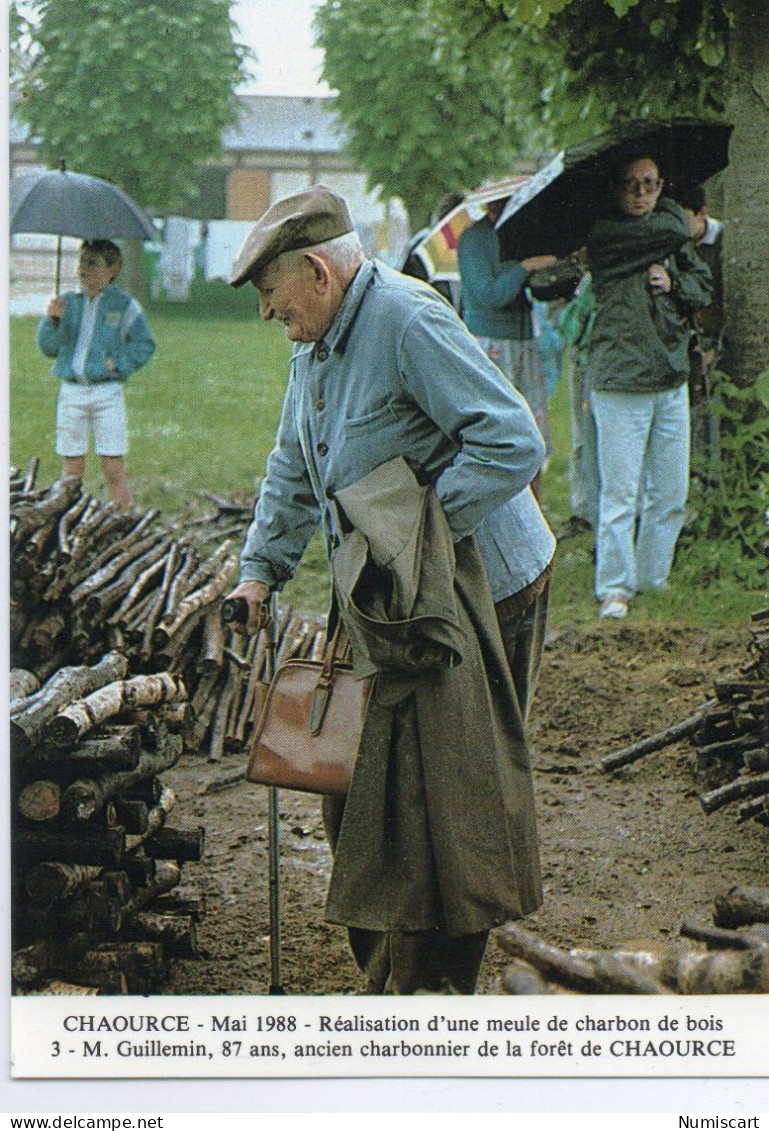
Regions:
M 663 943 L 682 921 L 711 923 L 714 896 L 766 884 L 769 829 L 738 824 L 735 806 L 706 815 L 688 741 L 607 775 L 600 759 L 681 722 L 712 680 L 748 659 L 746 630 L 596 624 L 552 634 L 532 720 L 545 901 L 526 921 L 561 947 Z M 205 893 L 200 957 L 174 961 L 164 992 L 262 994 L 269 987 L 266 791 L 210 792 L 243 756 L 187 756 L 167 775 L 174 824 L 202 824 L 201 862 L 184 865 Z M 164 775 L 164 782 L 166 775 Z M 295 994 L 362 988 L 343 929 L 323 922 L 330 858 L 319 798 L 282 792 L 283 985 Z M 492 934 L 478 992 L 499 992 L 506 956 Z

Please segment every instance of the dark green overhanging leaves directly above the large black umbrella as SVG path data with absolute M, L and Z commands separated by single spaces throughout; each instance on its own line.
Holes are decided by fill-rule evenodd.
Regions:
M 541 92 L 551 137 L 572 145 L 627 119 L 724 113 L 723 0 L 432 0 L 456 34 L 553 61 Z M 469 41 L 468 41 L 469 44 Z

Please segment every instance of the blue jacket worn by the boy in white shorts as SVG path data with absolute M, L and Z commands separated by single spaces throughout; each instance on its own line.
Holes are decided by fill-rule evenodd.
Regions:
M 37 327 L 37 345 L 46 357 L 55 357 L 51 372 L 62 381 L 77 381 L 72 356 L 77 345 L 85 295 L 64 294 L 64 314 L 59 326 L 50 318 L 42 318 Z M 85 361 L 85 380 L 126 381 L 145 365 L 155 353 L 155 338 L 144 317 L 141 307 L 130 294 L 111 283 L 100 295 L 94 334 Z M 106 368 L 106 359 L 114 363 L 114 372 Z

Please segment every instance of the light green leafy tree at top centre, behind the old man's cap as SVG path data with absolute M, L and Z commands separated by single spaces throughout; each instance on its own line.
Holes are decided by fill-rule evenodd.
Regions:
M 484 42 L 466 50 L 430 0 L 330 0 L 316 31 L 352 157 L 415 226 L 444 193 L 509 173 L 516 154 L 544 141 L 516 90 L 545 86 L 548 60 L 533 53 L 521 70 Z

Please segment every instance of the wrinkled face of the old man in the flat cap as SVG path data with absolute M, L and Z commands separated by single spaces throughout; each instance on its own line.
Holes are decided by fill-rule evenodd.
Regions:
M 259 313 L 265 321 L 283 322 L 291 342 L 319 342 L 334 320 L 329 288 L 306 258 L 274 259 L 254 286 Z

